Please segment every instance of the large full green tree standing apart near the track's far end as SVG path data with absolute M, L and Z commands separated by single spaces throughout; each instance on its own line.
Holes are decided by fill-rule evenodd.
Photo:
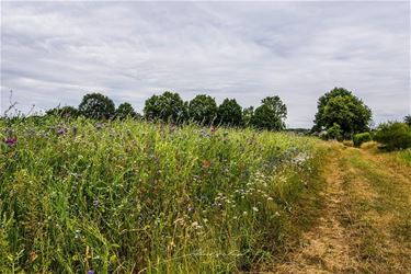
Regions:
M 343 138 L 351 139 L 356 133 L 367 132 L 372 111 L 351 91 L 334 88 L 318 101 L 315 130 L 328 130 L 334 124 L 340 125 Z

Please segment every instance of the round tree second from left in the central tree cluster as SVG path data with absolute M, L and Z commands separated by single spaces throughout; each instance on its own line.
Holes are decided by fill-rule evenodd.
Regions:
M 217 117 L 217 104 L 214 98 L 201 94 L 189 103 L 190 118 L 201 125 L 209 125 Z

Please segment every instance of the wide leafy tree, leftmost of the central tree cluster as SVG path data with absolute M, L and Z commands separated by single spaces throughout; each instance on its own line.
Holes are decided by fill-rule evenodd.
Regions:
M 181 122 L 184 116 L 184 102 L 179 93 L 165 91 L 161 95 L 152 95 L 146 100 L 144 113 L 148 119 Z

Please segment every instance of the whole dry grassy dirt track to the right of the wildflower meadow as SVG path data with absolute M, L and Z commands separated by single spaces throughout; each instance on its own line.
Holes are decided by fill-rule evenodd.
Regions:
M 323 215 L 275 273 L 411 273 L 411 170 L 328 146 Z

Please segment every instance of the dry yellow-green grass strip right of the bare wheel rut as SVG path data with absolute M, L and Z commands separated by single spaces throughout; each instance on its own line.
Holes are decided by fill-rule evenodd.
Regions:
M 353 250 L 364 273 L 408 273 L 411 253 L 409 182 L 391 155 L 359 150 L 345 153 L 346 216 Z M 366 185 L 368 189 L 362 189 Z

